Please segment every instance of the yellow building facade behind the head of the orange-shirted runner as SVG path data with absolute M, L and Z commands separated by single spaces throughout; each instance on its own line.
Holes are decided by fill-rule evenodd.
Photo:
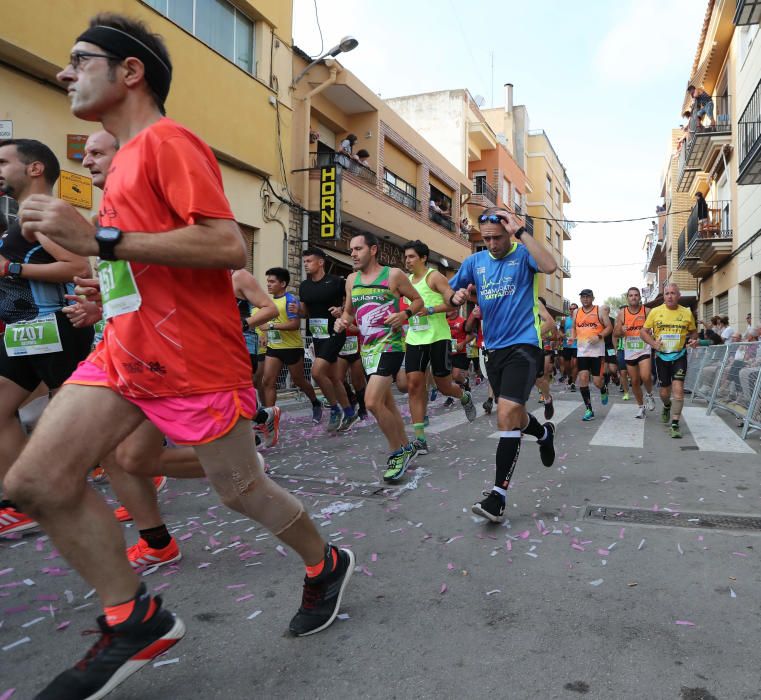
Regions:
M 3 4 L 0 132 L 38 139 L 52 148 L 65 171 L 59 185 L 64 197 L 72 184 L 85 194 L 92 189 L 81 166 L 82 144 L 100 125 L 72 116 L 55 75 L 103 5 L 95 0 Z M 268 267 L 286 263 L 293 222 L 278 197 L 286 194 L 281 166 L 290 163 L 291 3 L 111 0 L 108 10 L 142 19 L 164 37 L 174 64 L 167 115 L 213 149 L 247 238 L 250 268 L 261 278 Z M 12 211 L 3 199 L 0 211 Z M 98 202 L 96 190 L 77 204 L 89 216 Z

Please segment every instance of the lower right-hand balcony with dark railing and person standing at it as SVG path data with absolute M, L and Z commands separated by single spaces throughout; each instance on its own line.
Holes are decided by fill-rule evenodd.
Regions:
M 679 267 L 694 277 L 706 277 L 732 254 L 729 200 L 708 203 L 708 218 L 700 219 L 697 205 L 679 236 Z

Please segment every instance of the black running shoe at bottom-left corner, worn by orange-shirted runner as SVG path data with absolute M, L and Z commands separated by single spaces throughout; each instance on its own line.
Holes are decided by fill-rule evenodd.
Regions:
M 150 600 L 145 584 L 141 583 L 129 619 L 112 627 L 101 615 L 100 629 L 92 631 L 92 634 L 100 634 L 98 641 L 73 668 L 58 675 L 36 700 L 97 700 L 177 644 L 185 636 L 185 625 L 179 617 L 161 609 L 161 598 L 153 599 L 156 610 L 143 622 Z

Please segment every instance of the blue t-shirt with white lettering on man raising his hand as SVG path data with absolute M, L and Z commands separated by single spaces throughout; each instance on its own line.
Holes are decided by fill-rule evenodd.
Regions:
M 488 350 L 519 344 L 542 347 L 537 272 L 526 246 L 514 243 L 499 259 L 486 250 L 465 258 L 449 280 L 454 290 L 476 285 Z

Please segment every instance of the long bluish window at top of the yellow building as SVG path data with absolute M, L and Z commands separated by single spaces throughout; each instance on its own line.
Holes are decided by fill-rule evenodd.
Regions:
M 144 0 L 247 73 L 254 73 L 254 23 L 227 0 Z

